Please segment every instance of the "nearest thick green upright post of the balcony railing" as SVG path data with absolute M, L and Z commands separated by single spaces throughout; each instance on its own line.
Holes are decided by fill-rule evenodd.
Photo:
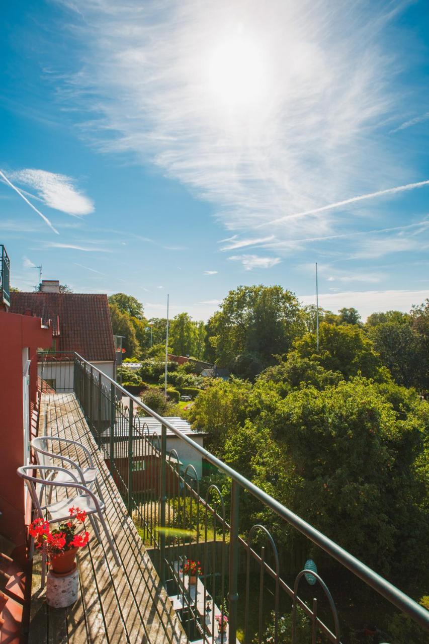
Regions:
M 237 604 L 238 604 L 238 518 L 240 487 L 233 480 L 231 488 L 231 533 L 229 535 L 229 634 L 228 644 L 237 641 Z

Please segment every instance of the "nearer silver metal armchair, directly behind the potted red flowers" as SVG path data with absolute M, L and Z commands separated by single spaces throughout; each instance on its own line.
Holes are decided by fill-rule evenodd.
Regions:
M 37 478 L 33 473 L 41 471 L 47 473 L 47 478 Z M 72 478 L 72 482 L 63 482 L 57 480 L 57 475 L 63 473 Z M 71 507 L 79 507 L 81 510 L 86 511 L 86 515 L 91 522 L 97 540 L 101 542 L 99 529 L 97 527 L 97 520 L 104 529 L 104 533 L 110 545 L 110 549 L 115 559 L 116 564 L 120 565 L 119 556 L 110 536 L 106 521 L 104 520 L 103 512 L 105 510 L 104 502 L 97 498 L 90 488 L 79 482 L 77 477 L 72 473 L 72 470 L 66 468 L 58 468 L 56 466 L 46 465 L 26 465 L 17 469 L 17 475 L 23 478 L 30 497 L 32 498 L 33 506 L 35 508 L 36 518 L 41 518 L 48 521 L 49 524 L 61 523 L 70 518 L 69 510 Z M 40 486 L 39 493 L 37 493 L 36 486 Z M 55 503 L 47 503 L 42 505 L 43 494 L 46 488 L 50 493 L 48 497 L 52 497 L 53 488 L 64 488 L 66 493 L 68 491 L 75 491 L 73 496 L 64 496 Z M 43 549 L 42 553 L 42 588 L 44 587 L 44 579 L 46 576 L 46 551 Z

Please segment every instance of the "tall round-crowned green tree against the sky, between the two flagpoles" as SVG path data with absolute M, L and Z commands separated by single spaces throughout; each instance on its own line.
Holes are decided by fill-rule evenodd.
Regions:
M 280 286 L 240 286 L 231 290 L 209 320 L 216 363 L 230 366 L 236 356 L 252 354 L 262 367 L 286 353 L 303 330 L 298 299 Z

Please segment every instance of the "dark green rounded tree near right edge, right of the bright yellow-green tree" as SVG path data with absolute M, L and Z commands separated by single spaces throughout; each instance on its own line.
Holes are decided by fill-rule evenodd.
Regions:
M 427 354 L 419 333 L 409 324 L 384 322 L 370 327 L 368 337 L 397 383 L 424 388 Z

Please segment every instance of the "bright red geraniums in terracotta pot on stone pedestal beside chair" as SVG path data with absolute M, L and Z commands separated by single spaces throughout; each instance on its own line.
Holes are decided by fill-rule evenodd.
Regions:
M 88 532 L 75 534 L 79 524 L 86 519 L 86 512 L 79 507 L 71 507 L 70 519 L 50 529 L 50 524 L 43 519 L 35 519 L 30 526 L 30 535 L 37 541 L 37 547 L 46 546 L 50 561 L 50 570 L 57 575 L 66 575 L 75 568 L 75 558 L 79 548 L 88 544 Z

